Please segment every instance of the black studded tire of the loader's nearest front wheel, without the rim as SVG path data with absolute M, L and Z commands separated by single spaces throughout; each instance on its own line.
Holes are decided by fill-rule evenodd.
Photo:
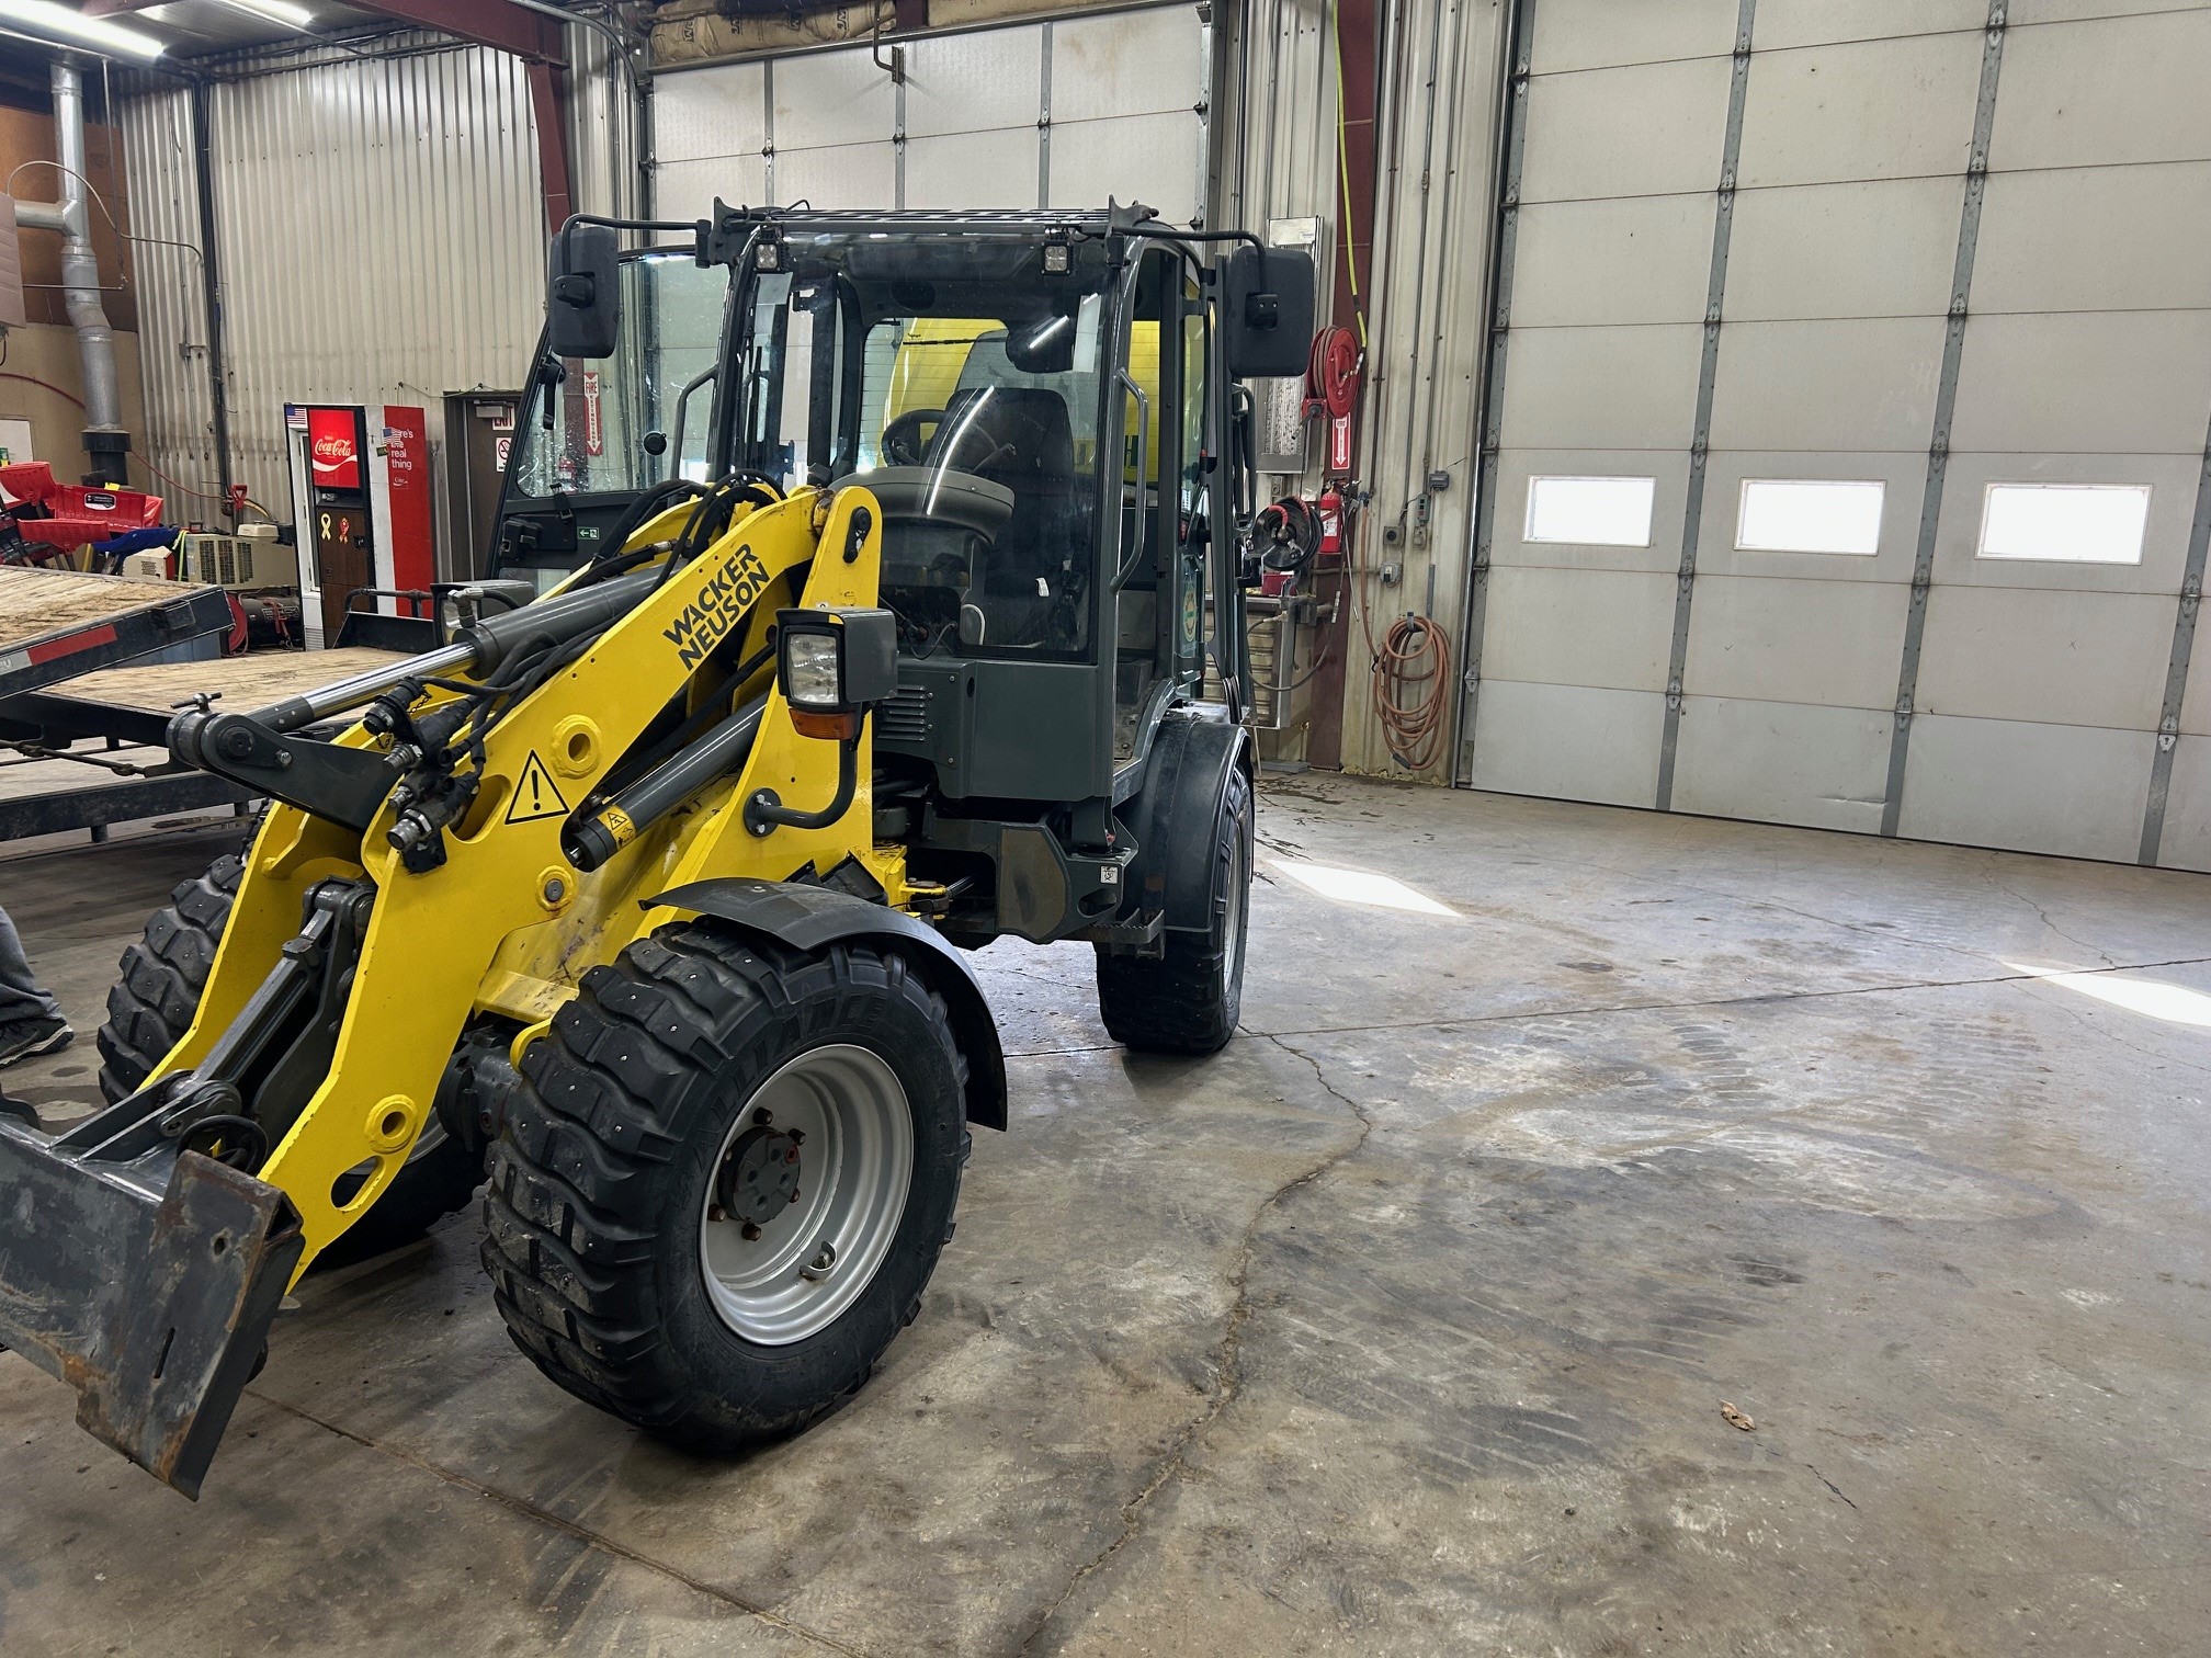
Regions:
M 765 1346 L 705 1289 L 701 1214 L 725 1134 L 794 1057 L 849 1043 L 913 1119 L 898 1231 L 825 1329 Z M 895 951 L 663 926 L 531 1043 L 484 1192 L 484 1269 L 515 1344 L 579 1399 L 712 1452 L 807 1428 L 860 1391 L 922 1304 L 968 1156 L 966 1063 L 944 999 Z

